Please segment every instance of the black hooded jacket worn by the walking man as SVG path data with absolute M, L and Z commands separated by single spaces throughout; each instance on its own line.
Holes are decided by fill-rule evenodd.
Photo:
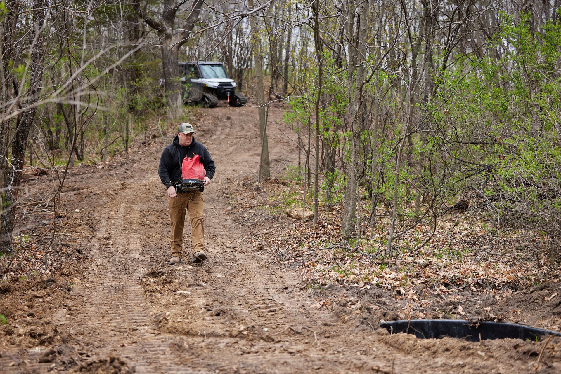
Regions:
M 181 162 L 187 155 L 189 157 L 199 155 L 205 168 L 205 176 L 208 176 L 209 179 L 213 178 L 215 170 L 214 161 L 206 147 L 195 141 L 195 137 L 193 137 L 193 141 L 187 147 L 180 146 L 179 137 L 176 135 L 173 138 L 173 143 L 164 148 L 160 157 L 158 175 L 166 188 L 182 183 Z

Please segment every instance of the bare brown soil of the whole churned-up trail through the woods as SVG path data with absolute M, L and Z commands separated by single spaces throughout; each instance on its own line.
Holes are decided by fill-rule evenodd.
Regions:
M 560 338 L 471 343 L 389 335 L 378 322 L 396 319 L 402 305 L 387 291 L 307 287 L 296 268 L 279 267 L 268 249 L 247 240 L 278 218 L 244 217 L 228 207 L 238 188 L 265 193 L 252 184 L 260 155 L 256 109 L 221 105 L 196 113 L 196 138 L 217 163 L 204 193 L 208 260 L 167 264 L 168 200 L 157 166 L 172 132 L 139 144 L 111 169 L 73 170 L 63 190 L 71 235 L 58 239 L 70 244 L 73 260 L 49 278 L 0 285 L 8 320 L 0 372 L 561 372 Z M 281 115 L 276 107 L 269 119 Z M 273 176 L 295 162 L 295 144 L 275 126 L 269 147 Z M 545 298 L 558 287 L 526 290 L 504 305 L 491 297 L 485 305 L 496 307 L 491 314 L 521 310 L 517 321 L 548 328 L 559 323 L 559 297 Z M 337 294 L 338 302 L 321 303 Z M 479 312 L 466 307 L 463 317 L 481 319 Z

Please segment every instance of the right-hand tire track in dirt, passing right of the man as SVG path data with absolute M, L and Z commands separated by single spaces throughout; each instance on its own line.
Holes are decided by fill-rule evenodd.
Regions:
M 226 134 L 224 138 L 231 137 Z M 228 142 L 223 147 L 229 147 Z M 266 250 L 249 247 L 242 239 L 246 236 L 242 228 L 228 216 L 226 198 L 219 190 L 241 160 L 255 163 L 240 153 L 223 152 L 215 157 L 221 172 L 205 191 L 208 267 L 154 265 L 153 272 L 165 274 L 166 282 L 181 283 L 187 277 L 190 292 L 190 302 L 185 308 L 181 306 L 181 311 L 173 303 L 176 288 L 162 289 L 162 294 L 150 299 L 157 310 L 170 312 L 169 317 L 158 320 L 160 331 L 177 334 L 175 348 L 186 357 L 191 370 L 352 372 L 366 366 L 367 361 L 361 357 L 351 363 L 342 359 L 344 343 L 329 343 L 339 335 L 340 327 L 334 323 L 337 319 L 327 312 L 311 310 L 316 300 L 302 291 L 304 286 L 296 274 L 279 269 Z M 152 183 L 157 185 L 159 181 Z M 160 214 L 167 214 L 164 206 L 159 208 Z M 163 235 L 169 235 L 167 230 L 162 230 Z M 187 225 L 187 242 L 188 231 Z M 169 255 L 167 246 L 159 258 Z M 150 284 L 146 287 L 151 289 Z

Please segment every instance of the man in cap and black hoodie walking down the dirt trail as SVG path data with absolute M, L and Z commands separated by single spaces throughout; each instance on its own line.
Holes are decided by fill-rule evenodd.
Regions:
M 160 157 L 158 174 L 160 180 L 168 189 L 169 218 L 172 222 L 172 258 L 170 265 L 181 263 L 183 258 L 183 225 L 185 224 L 185 212 L 189 213 L 191 221 L 191 237 L 193 241 L 194 262 L 206 259 L 204 252 L 204 227 L 203 227 L 203 189 L 183 192 L 176 189 L 183 182 L 183 170 L 188 166 L 189 170 L 200 170 L 200 177 L 204 180 L 204 186 L 210 184 L 214 176 L 214 161 L 203 144 L 195 141 L 196 134 L 192 125 L 182 123 L 177 128 L 177 135 L 173 143 L 164 148 Z M 204 170 L 203 170 L 204 168 Z M 204 175 L 204 178 L 203 178 Z

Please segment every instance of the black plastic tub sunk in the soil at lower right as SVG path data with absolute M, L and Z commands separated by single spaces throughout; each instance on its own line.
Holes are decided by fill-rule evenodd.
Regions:
M 387 329 L 390 334 L 415 334 L 421 339 L 441 339 L 450 336 L 470 342 L 505 338 L 537 341 L 546 335 L 561 336 L 561 333 L 556 331 L 503 322 L 480 322 L 477 327 L 470 326 L 470 322 L 466 320 L 403 320 L 380 322 L 380 327 Z

